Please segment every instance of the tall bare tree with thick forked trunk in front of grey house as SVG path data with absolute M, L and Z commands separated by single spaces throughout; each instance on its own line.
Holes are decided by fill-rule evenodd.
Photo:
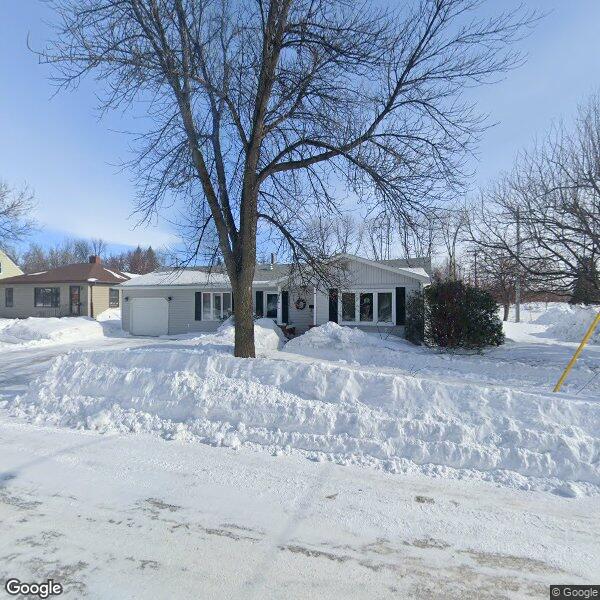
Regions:
M 520 61 L 532 19 L 477 16 L 474 0 L 380 10 L 345 0 L 56 0 L 41 53 L 59 84 L 94 73 L 103 109 L 147 104 L 139 209 L 185 194 L 193 247 L 216 240 L 235 298 L 235 355 L 254 356 L 259 223 L 323 272 L 299 214 L 410 214 L 463 180 L 482 120 L 461 98 Z

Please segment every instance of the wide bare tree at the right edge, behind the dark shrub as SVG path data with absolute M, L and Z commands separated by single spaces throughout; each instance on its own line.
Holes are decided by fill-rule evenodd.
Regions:
M 517 261 L 531 288 L 558 293 L 587 289 L 587 301 L 600 300 L 598 97 L 579 109 L 572 129 L 555 128 L 486 191 L 470 234 L 480 247 Z

